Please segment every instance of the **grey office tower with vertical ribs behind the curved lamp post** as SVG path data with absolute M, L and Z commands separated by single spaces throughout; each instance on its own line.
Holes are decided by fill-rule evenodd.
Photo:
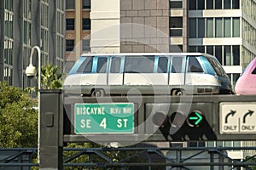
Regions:
M 0 81 L 26 88 L 36 86 L 26 77 L 31 49 L 41 49 L 41 65 L 58 65 L 65 60 L 65 1 L 0 1 Z M 38 66 L 34 53 L 32 62 Z M 38 67 L 37 67 L 38 68 Z M 32 84 L 33 83 L 33 84 Z

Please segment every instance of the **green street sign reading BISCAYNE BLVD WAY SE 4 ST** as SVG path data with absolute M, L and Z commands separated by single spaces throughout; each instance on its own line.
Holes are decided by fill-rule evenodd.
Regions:
M 134 104 L 75 104 L 74 133 L 134 133 Z

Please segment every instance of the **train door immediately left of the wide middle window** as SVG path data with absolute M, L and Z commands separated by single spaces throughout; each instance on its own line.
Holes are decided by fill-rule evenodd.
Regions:
M 113 56 L 110 59 L 108 71 L 108 85 L 122 85 L 124 79 L 124 56 Z

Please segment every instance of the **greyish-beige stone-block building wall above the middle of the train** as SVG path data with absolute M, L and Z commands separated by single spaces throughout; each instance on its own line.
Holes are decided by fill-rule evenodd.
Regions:
M 168 0 L 120 0 L 122 53 L 169 52 L 168 4 Z

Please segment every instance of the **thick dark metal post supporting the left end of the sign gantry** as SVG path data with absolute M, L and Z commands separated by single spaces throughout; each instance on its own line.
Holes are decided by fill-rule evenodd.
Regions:
M 63 105 L 61 90 L 41 90 L 40 169 L 63 167 Z

